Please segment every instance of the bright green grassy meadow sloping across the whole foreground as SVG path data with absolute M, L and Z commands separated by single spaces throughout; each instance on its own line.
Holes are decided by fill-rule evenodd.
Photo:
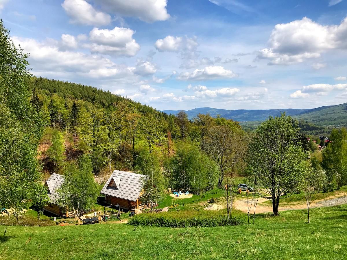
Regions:
M 347 205 L 260 214 L 255 225 L 9 226 L 1 259 L 346 259 Z M 5 226 L 0 226 L 0 235 Z

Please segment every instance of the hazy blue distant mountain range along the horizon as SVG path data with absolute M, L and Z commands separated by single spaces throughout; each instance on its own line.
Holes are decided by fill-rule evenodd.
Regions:
M 167 114 L 176 115 L 180 110 L 164 110 Z M 268 110 L 226 110 L 214 109 L 211 107 L 199 107 L 185 111 L 189 119 L 193 119 L 197 114 L 210 113 L 211 116 L 220 115 L 226 119 L 239 122 L 264 121 L 269 116 L 279 116 L 286 112 L 287 115 L 296 119 L 304 119 L 319 125 L 346 125 L 347 124 L 347 103 L 335 106 L 321 106 L 315 109 L 268 109 Z

